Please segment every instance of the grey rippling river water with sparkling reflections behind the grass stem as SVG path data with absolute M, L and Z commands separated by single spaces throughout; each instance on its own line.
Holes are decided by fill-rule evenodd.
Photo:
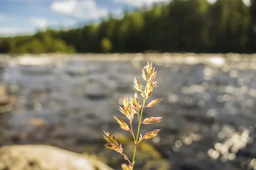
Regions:
M 124 118 L 118 111 L 121 98 L 133 96 L 133 78 L 142 81 L 140 69 L 150 60 L 160 86 L 151 99 L 165 99 L 144 116 L 164 120 L 143 126 L 141 133 L 163 130 L 138 149 L 136 168 L 256 168 L 256 57 L 134 56 L 52 57 L 45 65 L 43 59 L 41 65 L 36 59 L 6 59 L 1 83 L 17 102 L 10 113 L 0 115 L 0 144 L 48 144 L 86 152 L 120 170 L 123 158 L 103 148 L 102 130 L 129 137 L 113 115 Z M 119 140 L 131 157 L 130 138 Z

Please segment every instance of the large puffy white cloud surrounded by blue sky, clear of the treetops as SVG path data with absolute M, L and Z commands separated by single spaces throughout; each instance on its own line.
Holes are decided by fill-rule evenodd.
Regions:
M 58 0 L 51 3 L 51 9 L 57 13 L 87 19 L 96 19 L 107 15 L 107 9 L 98 8 L 94 0 Z

